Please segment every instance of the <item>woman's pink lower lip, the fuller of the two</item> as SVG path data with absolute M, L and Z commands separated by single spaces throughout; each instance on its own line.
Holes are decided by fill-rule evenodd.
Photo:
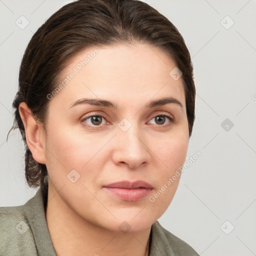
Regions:
M 152 189 L 150 188 L 136 188 L 136 189 L 125 189 L 117 187 L 104 187 L 111 193 L 118 195 L 125 201 L 138 201 L 147 196 Z

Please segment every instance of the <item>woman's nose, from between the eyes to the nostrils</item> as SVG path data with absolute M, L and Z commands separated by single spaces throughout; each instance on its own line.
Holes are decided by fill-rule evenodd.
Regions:
M 125 125 L 128 125 L 125 123 Z M 114 137 L 114 150 L 112 159 L 116 165 L 127 165 L 130 168 L 138 168 L 150 160 L 150 149 L 148 147 L 148 137 L 144 131 L 139 129 L 134 123 L 125 130 L 117 128 Z

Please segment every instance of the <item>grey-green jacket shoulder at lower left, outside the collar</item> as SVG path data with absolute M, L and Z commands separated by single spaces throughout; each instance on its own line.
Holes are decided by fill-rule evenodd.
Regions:
M 25 204 L 0 207 L 0 234 L 0 255 L 37 255 Z

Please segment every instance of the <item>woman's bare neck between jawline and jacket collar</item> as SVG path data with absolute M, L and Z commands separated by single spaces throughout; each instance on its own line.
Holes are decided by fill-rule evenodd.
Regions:
M 96 225 L 72 210 L 51 186 L 46 221 L 57 256 L 149 255 L 151 227 L 141 232 L 122 233 Z

